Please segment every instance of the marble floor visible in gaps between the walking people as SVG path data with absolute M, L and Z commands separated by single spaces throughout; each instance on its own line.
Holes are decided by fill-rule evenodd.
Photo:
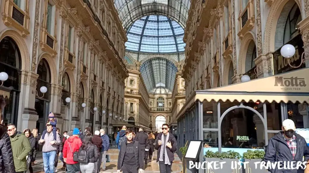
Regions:
M 110 162 L 109 163 L 106 163 L 106 171 L 101 171 L 102 173 L 116 173 L 117 172 L 117 160 L 118 160 L 118 149 L 110 149 L 108 151 L 108 155 L 110 156 Z M 175 160 L 172 164 L 172 172 L 173 173 L 178 173 L 178 172 L 181 172 L 182 171 L 182 162 L 180 160 L 180 158 L 178 157 L 177 154 L 174 154 L 174 157 L 175 157 Z M 152 156 L 152 160 L 151 162 L 149 162 L 149 159 L 148 159 L 148 162 L 147 163 L 147 167 L 145 168 L 144 172 L 145 173 L 159 173 L 159 163 L 156 162 L 157 160 L 157 151 L 155 151 L 153 153 L 153 156 Z M 62 167 L 62 162 L 59 161 L 58 162 L 58 166 L 57 166 L 57 169 L 58 169 L 58 173 L 62 173 L 62 172 L 65 172 L 65 171 L 61 171 L 60 168 Z M 44 172 L 44 167 L 43 167 L 43 159 L 42 159 L 42 153 L 39 152 L 37 153 L 37 159 L 36 159 L 36 162 L 35 162 L 35 165 L 32 166 L 33 168 L 33 171 L 35 173 L 43 173 Z M 27 173 L 29 173 L 29 171 L 27 171 Z

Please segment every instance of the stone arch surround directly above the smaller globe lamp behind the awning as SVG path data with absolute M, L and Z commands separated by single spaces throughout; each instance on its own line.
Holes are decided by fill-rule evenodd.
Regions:
M 252 32 L 247 32 L 241 41 L 240 47 L 243 49 L 240 49 L 239 51 L 239 58 L 238 58 L 238 74 L 244 74 L 246 71 L 246 54 L 248 50 L 248 46 L 250 42 L 253 40 L 254 44 L 255 42 L 255 36 Z

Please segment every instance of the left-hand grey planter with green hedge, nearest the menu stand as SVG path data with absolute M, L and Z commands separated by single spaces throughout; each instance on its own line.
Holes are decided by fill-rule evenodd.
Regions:
M 220 172 L 234 172 L 234 173 L 240 173 L 242 170 L 237 169 L 237 170 L 231 170 L 231 164 L 235 164 L 239 162 L 239 159 L 241 158 L 241 155 L 238 152 L 235 151 L 227 151 L 227 152 L 222 152 L 221 154 L 213 151 L 206 151 L 205 155 L 205 161 L 207 162 L 213 162 L 217 164 L 217 169 Z M 222 164 L 222 169 L 221 169 L 221 164 L 220 162 L 226 162 Z M 212 169 L 207 167 L 207 164 L 205 164 L 203 167 L 206 167 L 207 170 L 206 172 L 216 172 L 214 171 L 214 164 L 212 165 Z

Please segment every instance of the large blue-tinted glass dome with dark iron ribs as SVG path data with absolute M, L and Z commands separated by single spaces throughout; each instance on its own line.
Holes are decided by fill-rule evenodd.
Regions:
M 145 53 L 184 52 L 184 29 L 174 20 L 160 15 L 144 16 L 127 31 L 127 51 Z

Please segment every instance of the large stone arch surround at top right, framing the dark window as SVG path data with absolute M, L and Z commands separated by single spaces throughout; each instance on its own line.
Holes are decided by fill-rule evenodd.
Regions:
M 265 25 L 265 36 L 264 36 L 264 53 L 272 53 L 275 51 L 275 35 L 277 30 L 278 20 L 286 3 L 294 1 L 297 3 L 298 8 L 302 11 L 300 0 L 274 0 L 267 17 Z M 302 18 L 304 16 L 302 15 Z M 274 27 L 275 26 L 275 27 Z

